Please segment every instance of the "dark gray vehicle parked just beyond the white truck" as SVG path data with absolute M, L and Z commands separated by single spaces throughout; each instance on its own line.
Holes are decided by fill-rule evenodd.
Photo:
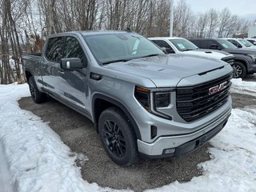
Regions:
M 202 49 L 223 50 L 234 54 L 234 78 L 244 78 L 246 74 L 256 72 L 256 50 L 238 49 L 222 38 L 190 38 L 188 40 Z

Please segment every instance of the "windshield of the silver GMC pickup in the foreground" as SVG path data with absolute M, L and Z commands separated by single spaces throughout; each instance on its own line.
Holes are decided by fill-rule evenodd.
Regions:
M 133 33 L 93 34 L 84 36 L 84 39 L 102 64 L 164 54 L 153 42 Z

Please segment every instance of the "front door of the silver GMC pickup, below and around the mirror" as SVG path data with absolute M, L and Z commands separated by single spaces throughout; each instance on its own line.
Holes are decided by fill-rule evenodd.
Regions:
M 80 58 L 84 65 L 82 70 L 62 70 L 59 73 L 59 86 L 62 99 L 82 113 L 87 112 L 90 103 L 88 101 L 87 58 L 79 38 L 75 36 L 64 38 L 62 58 Z

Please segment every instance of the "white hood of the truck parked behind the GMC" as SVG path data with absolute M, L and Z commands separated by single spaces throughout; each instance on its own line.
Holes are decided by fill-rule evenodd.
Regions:
M 215 51 L 215 50 L 188 50 L 184 52 L 184 54 L 190 54 L 190 55 L 198 55 L 201 57 L 206 57 L 206 58 L 216 58 L 221 60 L 222 58 L 226 58 L 229 56 L 232 56 L 232 54 L 227 54 L 224 51 Z

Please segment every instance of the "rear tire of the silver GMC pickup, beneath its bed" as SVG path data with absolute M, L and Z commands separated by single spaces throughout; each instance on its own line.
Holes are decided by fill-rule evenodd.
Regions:
M 30 76 L 29 78 L 30 94 L 35 103 L 46 102 L 47 95 L 38 90 L 38 86 L 34 82 L 34 78 Z

